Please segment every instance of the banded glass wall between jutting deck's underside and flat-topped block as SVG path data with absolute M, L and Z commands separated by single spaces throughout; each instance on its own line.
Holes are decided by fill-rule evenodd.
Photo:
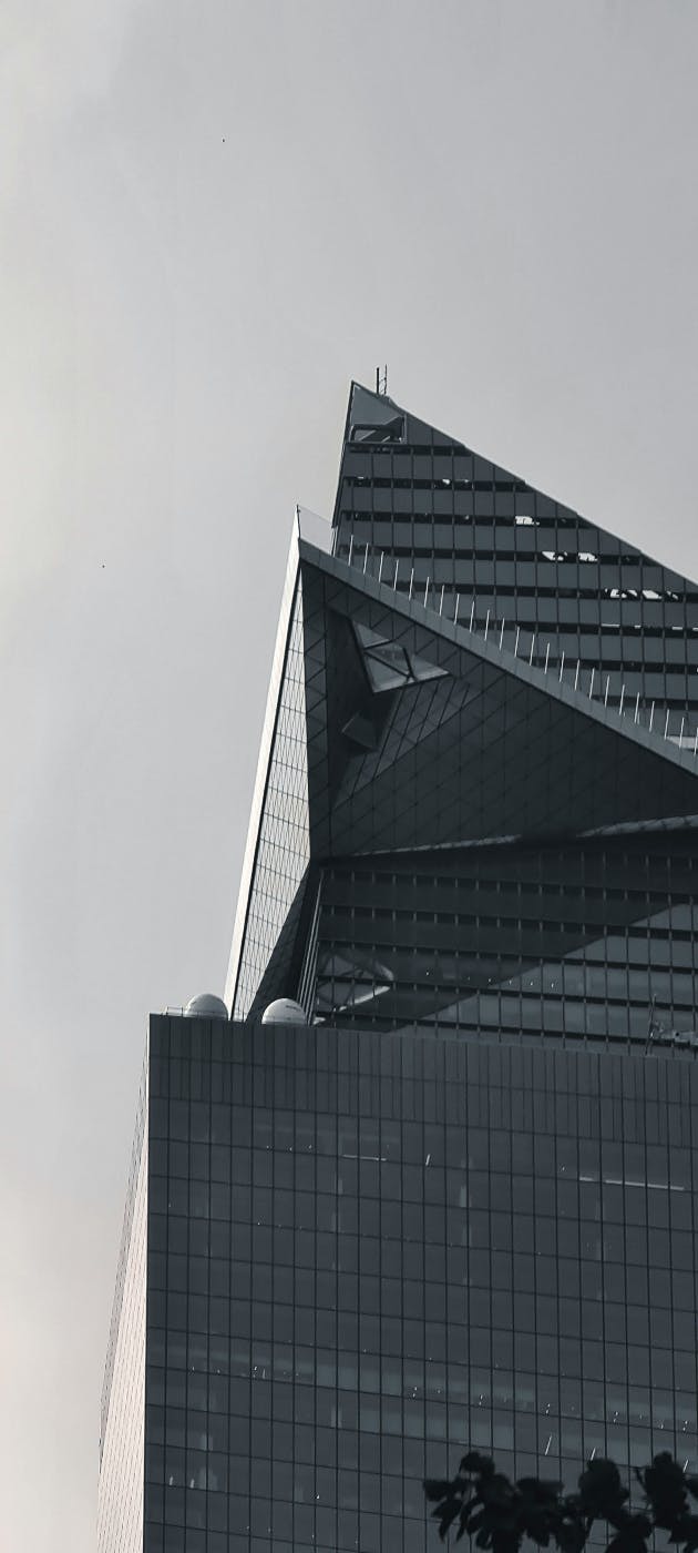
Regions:
M 698 831 L 327 863 L 315 1017 L 695 1039 Z

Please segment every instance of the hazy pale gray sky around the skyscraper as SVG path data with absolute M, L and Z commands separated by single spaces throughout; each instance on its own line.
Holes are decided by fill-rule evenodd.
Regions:
M 92 1553 L 146 1016 L 222 991 L 347 384 L 698 573 L 693 0 L 5 0 L 3 1545 Z

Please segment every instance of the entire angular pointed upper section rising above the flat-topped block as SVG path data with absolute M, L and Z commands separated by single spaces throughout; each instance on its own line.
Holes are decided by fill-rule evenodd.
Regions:
M 690 1039 L 693 585 L 358 387 L 295 585 L 236 1017 Z

